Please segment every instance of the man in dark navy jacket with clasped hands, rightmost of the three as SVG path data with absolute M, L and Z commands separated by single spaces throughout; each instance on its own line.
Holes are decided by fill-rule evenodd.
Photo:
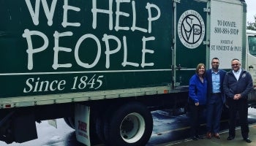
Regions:
M 241 69 L 241 63 L 238 59 L 231 61 L 232 70 L 227 72 L 223 89 L 227 97 L 229 106 L 229 137 L 227 140 L 232 140 L 236 136 L 236 113 L 239 114 L 241 123 L 241 134 L 245 142 L 252 142 L 249 137 L 248 126 L 248 94 L 252 91 L 252 76 L 249 72 Z

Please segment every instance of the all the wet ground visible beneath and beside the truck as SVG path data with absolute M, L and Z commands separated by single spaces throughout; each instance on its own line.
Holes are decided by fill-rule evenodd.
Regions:
M 236 139 L 227 141 L 227 120 L 221 122 L 221 139 L 202 139 L 197 142 L 189 139 L 189 118 L 187 115 L 173 116 L 169 110 L 157 110 L 152 112 L 154 118 L 154 131 L 146 146 L 215 146 L 215 145 L 256 145 L 256 109 L 249 109 L 250 139 L 252 143 L 247 144 L 241 138 L 238 127 Z M 22 144 L 12 143 L 7 145 L 0 142 L 1 146 L 81 146 L 75 139 L 75 131 L 69 128 L 63 119 L 57 120 L 58 128 L 48 124 L 48 121 L 37 123 L 38 139 L 24 142 Z M 205 136 L 205 121 L 201 120 L 200 134 Z M 99 146 L 99 145 L 98 145 Z

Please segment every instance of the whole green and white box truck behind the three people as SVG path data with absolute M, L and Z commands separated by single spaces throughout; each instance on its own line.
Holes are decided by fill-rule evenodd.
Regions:
M 64 118 L 79 142 L 146 145 L 152 110 L 184 108 L 211 58 L 238 58 L 256 85 L 243 0 L 1 0 L 0 140 L 37 139 Z M 249 106 L 255 107 L 255 91 Z

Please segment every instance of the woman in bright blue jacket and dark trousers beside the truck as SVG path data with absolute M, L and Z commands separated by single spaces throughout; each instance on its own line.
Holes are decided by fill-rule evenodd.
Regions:
M 193 140 L 203 139 L 198 135 L 199 119 L 206 106 L 207 96 L 206 66 L 198 64 L 195 72 L 189 80 L 189 107 L 191 110 L 191 137 Z

